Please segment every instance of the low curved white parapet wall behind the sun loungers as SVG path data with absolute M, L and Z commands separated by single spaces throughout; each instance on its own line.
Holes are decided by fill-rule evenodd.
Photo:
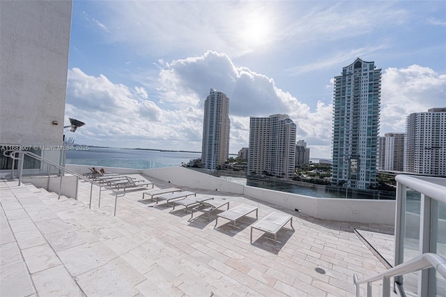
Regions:
M 174 185 L 206 190 L 221 190 L 266 201 L 294 211 L 296 208 L 307 215 L 327 220 L 347 222 L 391 224 L 395 222 L 394 200 L 316 198 L 287 192 L 238 185 L 222 178 L 202 174 L 184 167 L 147 169 L 147 176 Z

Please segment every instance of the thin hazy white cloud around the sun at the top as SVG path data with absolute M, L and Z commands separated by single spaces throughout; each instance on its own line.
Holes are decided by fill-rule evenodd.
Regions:
M 390 2 L 109 1 L 102 10 L 98 18 L 111 32 L 103 36 L 105 42 L 156 57 L 207 49 L 236 58 L 283 44 L 364 36 L 408 19 L 405 10 Z

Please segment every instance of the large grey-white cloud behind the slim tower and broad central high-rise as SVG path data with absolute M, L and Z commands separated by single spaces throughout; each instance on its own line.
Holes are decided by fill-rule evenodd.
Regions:
M 298 137 L 331 137 L 331 105 L 318 102 L 312 112 L 291 93 L 277 88 L 273 79 L 235 66 L 226 54 L 208 51 L 162 64 L 159 91 L 163 102 L 202 110 L 211 88 L 230 98 L 231 152 L 248 145 L 249 116 L 289 114 L 298 125 Z

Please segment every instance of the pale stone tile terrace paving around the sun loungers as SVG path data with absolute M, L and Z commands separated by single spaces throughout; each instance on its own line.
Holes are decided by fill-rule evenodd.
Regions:
M 155 189 L 175 186 L 148 179 Z M 149 207 L 151 199 L 131 191 L 118 197 L 114 217 L 114 195 L 102 192 L 98 208 L 95 187 L 89 209 L 86 182 L 77 201 L 0 184 L 1 296 L 355 296 L 353 273 L 385 271 L 353 229 L 388 233 L 390 226 L 317 220 L 249 197 L 183 188 L 231 207 L 257 206 L 259 218 L 293 215 L 294 229 L 279 231 L 277 245 L 256 230 L 251 244 L 249 216 L 236 229 L 223 221 L 214 228 L 215 214 L 210 222 L 201 213 L 190 220 L 184 208 Z M 379 282 L 373 293 L 380 296 Z

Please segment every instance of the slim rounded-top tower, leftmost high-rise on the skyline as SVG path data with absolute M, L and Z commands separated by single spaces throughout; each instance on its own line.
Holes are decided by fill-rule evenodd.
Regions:
M 203 168 L 215 170 L 229 157 L 229 98 L 222 92 L 210 89 L 204 101 Z

